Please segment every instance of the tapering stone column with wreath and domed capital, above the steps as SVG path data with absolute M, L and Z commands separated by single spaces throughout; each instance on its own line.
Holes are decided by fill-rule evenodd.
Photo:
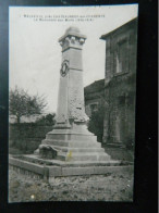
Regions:
M 84 106 L 82 49 L 86 36 L 70 27 L 59 39 L 62 47 L 57 127 L 71 128 L 87 120 Z

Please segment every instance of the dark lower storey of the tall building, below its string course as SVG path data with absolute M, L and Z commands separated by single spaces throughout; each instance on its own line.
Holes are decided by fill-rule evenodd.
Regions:
M 105 114 L 108 125 L 107 142 L 131 146 L 135 137 L 135 75 L 114 78 L 106 88 L 109 108 Z M 123 84 L 124 83 L 124 84 Z

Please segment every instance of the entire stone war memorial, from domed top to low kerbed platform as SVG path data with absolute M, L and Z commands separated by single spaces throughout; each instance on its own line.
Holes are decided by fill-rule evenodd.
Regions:
M 12 168 L 45 178 L 54 176 L 106 174 L 117 170 L 97 137 L 87 129 L 85 114 L 82 50 L 86 36 L 70 27 L 59 39 L 62 47 L 57 123 L 34 154 L 12 156 Z

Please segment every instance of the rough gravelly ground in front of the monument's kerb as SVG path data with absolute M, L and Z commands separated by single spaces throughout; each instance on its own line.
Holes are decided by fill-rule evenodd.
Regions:
M 9 171 L 9 202 L 132 201 L 133 174 L 56 177 L 53 184 Z

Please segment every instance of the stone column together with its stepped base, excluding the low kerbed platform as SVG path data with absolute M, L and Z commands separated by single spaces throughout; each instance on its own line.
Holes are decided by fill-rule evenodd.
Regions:
M 57 124 L 39 146 L 41 158 L 62 162 L 109 161 L 97 137 L 88 131 L 84 104 L 82 50 L 86 36 L 70 27 L 59 39 L 62 47 Z

